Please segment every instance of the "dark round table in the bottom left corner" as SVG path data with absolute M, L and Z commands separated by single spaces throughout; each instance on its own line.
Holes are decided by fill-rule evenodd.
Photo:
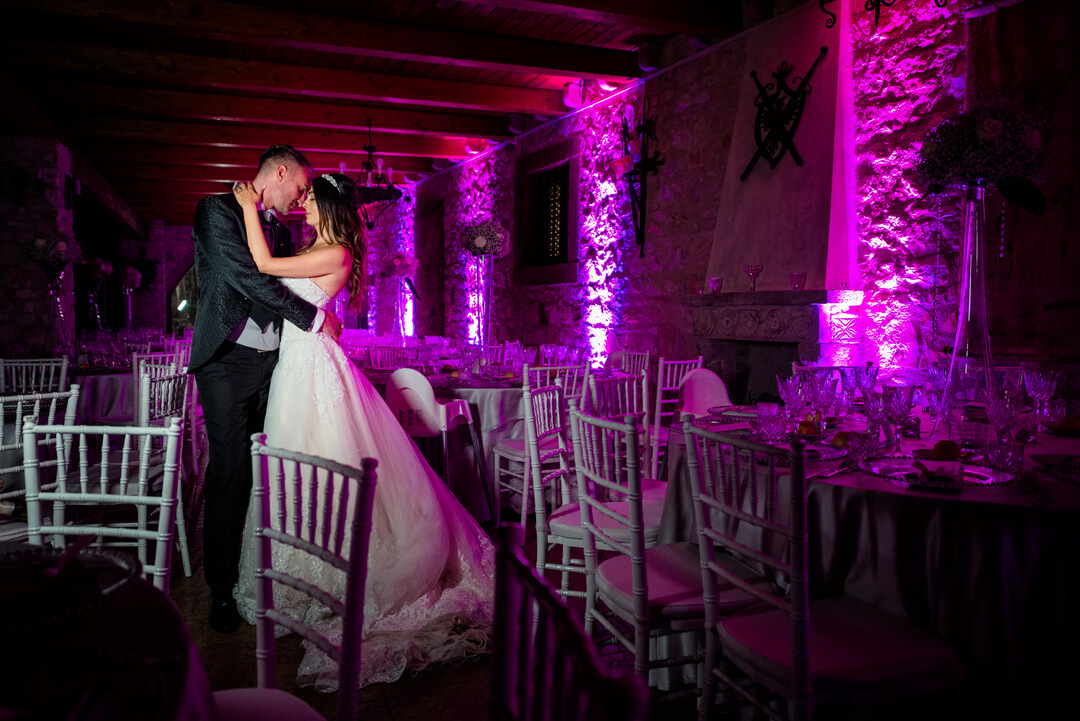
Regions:
M 167 596 L 117 552 L 0 544 L 0 716 L 217 718 L 210 681 Z

